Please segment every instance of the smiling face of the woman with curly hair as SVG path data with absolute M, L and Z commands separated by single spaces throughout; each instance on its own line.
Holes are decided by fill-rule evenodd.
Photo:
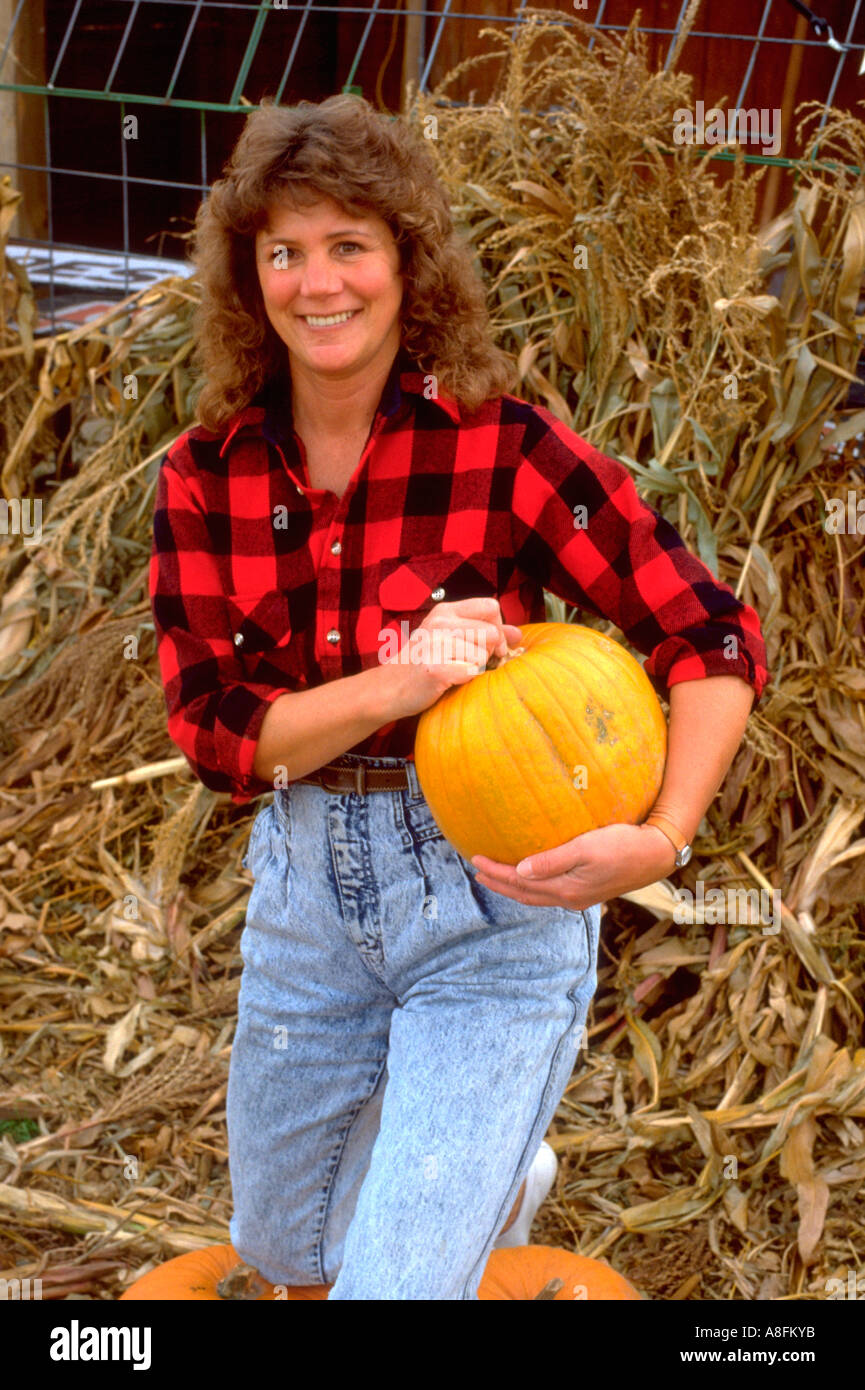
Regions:
M 374 213 L 332 199 L 300 211 L 275 204 L 256 234 L 256 270 L 292 375 L 345 378 L 394 360 L 403 281 L 396 242 Z

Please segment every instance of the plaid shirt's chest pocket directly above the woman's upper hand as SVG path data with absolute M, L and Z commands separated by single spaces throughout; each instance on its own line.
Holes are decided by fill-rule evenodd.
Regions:
M 391 556 L 380 562 L 378 602 L 385 621 L 423 616 L 435 603 L 498 598 L 499 563 L 476 552 L 439 550 L 437 555 Z

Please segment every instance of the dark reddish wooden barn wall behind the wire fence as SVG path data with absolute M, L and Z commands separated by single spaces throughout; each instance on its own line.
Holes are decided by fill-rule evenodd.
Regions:
M 21 36 L 32 71 L 50 72 L 64 40 L 67 25 L 76 0 L 28 0 L 25 7 L 26 35 Z M 403 0 L 407 10 L 427 8 L 441 13 L 445 0 Z M 814 0 L 816 11 L 829 19 L 837 35 L 844 35 L 848 22 L 847 0 Z M 547 4 L 552 13 L 574 13 L 563 3 Z M 647 0 L 641 6 L 641 25 L 645 29 L 673 28 L 680 14 L 680 0 Z M 480 31 L 488 19 L 464 18 L 469 14 L 512 17 L 516 3 L 508 0 L 452 0 L 451 18 L 442 26 L 431 85 L 464 58 L 485 49 Z M 175 86 L 175 96 L 188 100 L 228 101 L 257 11 L 253 0 L 238 8 L 206 6 L 199 15 L 193 42 Z M 86 0 L 78 13 L 71 42 L 57 76 L 58 86 L 102 88 L 125 31 L 128 7 L 115 0 Z M 588 0 L 583 18 L 597 14 L 597 0 Z M 736 6 L 709 4 L 702 7 L 702 18 L 695 28 L 715 26 L 734 33 L 719 39 L 690 38 L 683 49 L 680 67 L 694 76 L 694 100 L 713 104 L 737 104 L 743 75 L 752 43 L 738 40 L 736 33 L 755 33 L 763 13 L 763 0 L 737 0 Z M 604 21 L 627 25 L 634 6 L 611 0 L 604 10 Z M 291 79 L 282 101 L 302 99 L 321 100 L 341 90 L 346 82 L 355 53 L 364 40 L 367 13 L 346 13 L 338 18 L 313 10 L 296 47 Z M 865 17 L 864 17 L 865 19 Z M 177 54 L 184 42 L 189 8 L 181 4 L 140 6 L 129 33 L 125 56 L 114 74 L 114 90 L 153 93 L 165 90 Z M 421 36 L 421 26 L 424 29 Z M 407 76 L 417 74 L 417 51 L 421 43 L 431 51 L 438 32 L 438 18 L 426 21 L 409 15 L 380 15 L 366 35 L 366 46 L 353 82 L 375 106 L 396 111 L 401 108 L 402 88 Z M 288 56 L 299 32 L 298 14 L 273 10 L 266 19 L 263 40 L 245 83 L 245 96 L 257 101 L 274 93 L 281 81 Z M 797 17 L 787 0 L 772 4 L 766 33 L 791 38 L 809 35 L 805 19 Z M 858 36 L 861 40 L 861 36 Z M 649 57 L 663 63 L 669 38 L 648 35 Z M 45 58 L 38 50 L 45 50 Z M 24 50 L 22 50 L 24 51 Z M 865 76 L 858 76 L 858 54 L 847 57 L 834 104 L 854 108 L 865 99 Z M 32 58 L 32 63 L 29 61 Z M 477 68 L 456 83 L 451 96 L 476 101 L 484 100 L 495 65 Z M 825 44 L 802 49 L 790 44 L 763 43 L 758 51 L 754 74 L 741 104 L 783 107 L 783 154 L 798 153 L 794 139 L 791 111 L 797 101 L 823 100 L 836 68 L 836 54 Z M 21 78 L 19 78 L 21 79 Z M 725 103 L 726 99 L 726 103 Z M 79 175 L 56 174 L 51 179 L 54 208 L 54 239 L 104 247 L 122 247 L 128 236 L 131 250 L 182 254 L 181 239 L 188 232 L 200 193 L 195 189 L 161 188 L 159 179 L 200 183 L 213 181 L 231 150 L 241 128 L 242 115 L 207 114 L 207 160 L 202 168 L 202 121 L 199 113 L 178 107 L 131 107 L 138 115 L 139 138 L 121 142 L 121 113 L 114 103 L 86 101 L 72 97 L 50 99 L 51 163 L 54 167 L 90 170 L 120 175 L 122 157 L 127 171 L 142 182 L 128 189 L 128 210 L 124 218 L 121 183 Z M 42 139 L 42 99 L 22 97 L 19 143 L 33 157 L 35 142 Z M 24 158 L 24 154 L 19 156 Z M 719 177 L 727 177 L 729 165 L 718 161 Z M 24 175 L 21 175 L 24 177 Z M 47 236 L 45 210 L 36 199 L 39 178 L 31 178 L 32 221 L 39 228 L 35 235 Z M 783 206 L 791 189 L 787 174 L 770 172 L 763 179 L 763 214 Z

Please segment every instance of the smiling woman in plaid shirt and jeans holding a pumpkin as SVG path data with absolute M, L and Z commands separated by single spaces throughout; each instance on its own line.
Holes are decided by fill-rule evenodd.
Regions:
M 599 903 L 683 862 L 768 681 L 759 621 L 624 467 L 509 393 L 401 120 L 254 111 L 196 260 L 200 424 L 163 460 L 152 559 L 168 730 L 238 805 L 273 790 L 243 860 L 231 1237 L 335 1300 L 477 1298 L 551 1182 Z M 417 716 L 544 620 L 544 588 L 669 692 L 659 819 L 469 863 L 420 791 Z M 417 627 L 446 660 L 385 657 Z

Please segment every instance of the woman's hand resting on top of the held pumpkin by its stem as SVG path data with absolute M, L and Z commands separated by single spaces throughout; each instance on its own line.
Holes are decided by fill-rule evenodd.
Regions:
M 464 685 L 483 671 L 490 656 L 505 656 L 522 635 L 503 621 L 498 599 L 435 603 L 403 649 L 381 663 L 388 719 L 428 709 L 451 685 Z

